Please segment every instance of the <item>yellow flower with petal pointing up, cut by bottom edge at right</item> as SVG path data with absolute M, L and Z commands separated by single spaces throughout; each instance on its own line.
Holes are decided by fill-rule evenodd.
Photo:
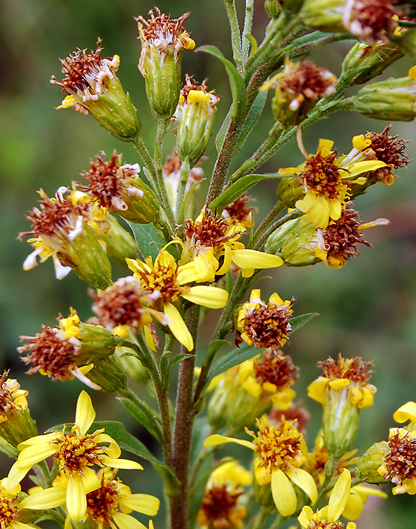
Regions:
M 297 517 L 300 525 L 304 529 L 315 529 L 316 527 L 322 529 L 343 529 L 343 523 L 338 521 L 338 518 L 343 514 L 350 491 L 351 474 L 349 470 L 344 469 L 331 491 L 328 505 L 316 512 L 313 512 L 309 505 L 305 505 L 299 517 Z M 356 524 L 351 521 L 348 522 L 347 529 L 356 529 Z

